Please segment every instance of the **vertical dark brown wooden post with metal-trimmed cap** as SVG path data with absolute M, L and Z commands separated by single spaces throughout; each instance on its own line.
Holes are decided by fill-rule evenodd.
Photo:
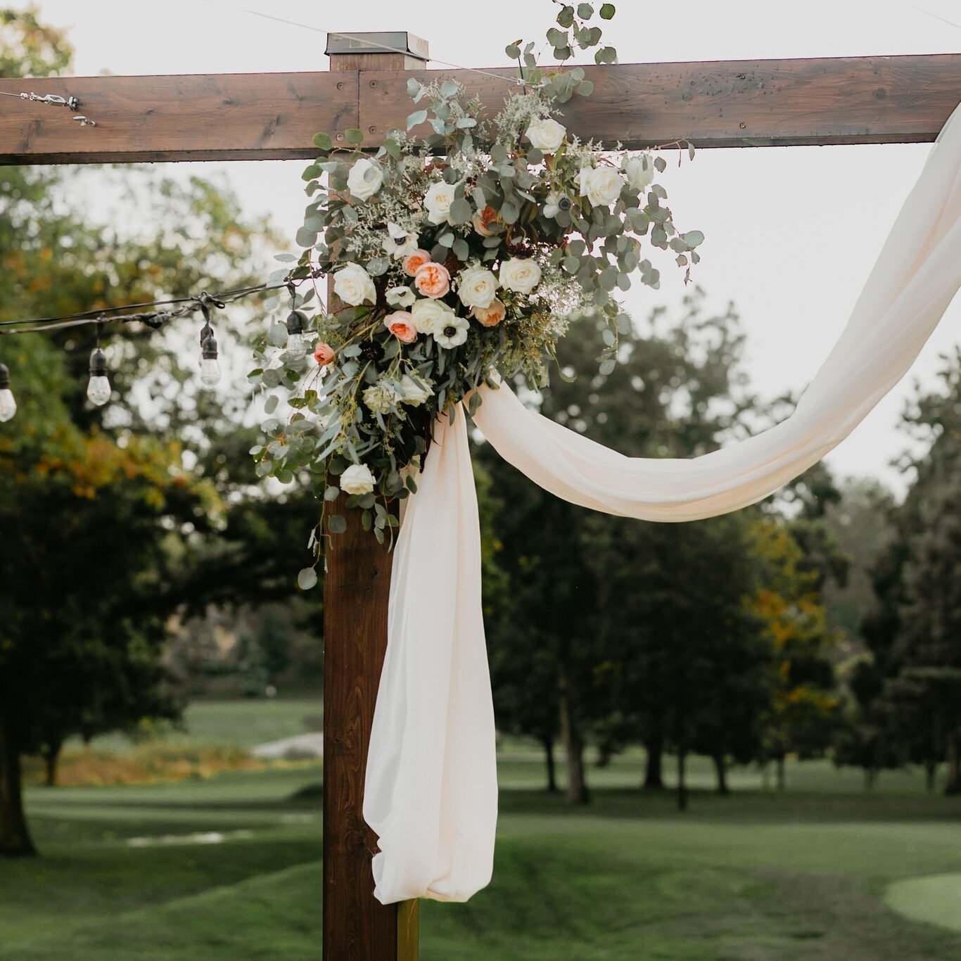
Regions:
M 427 44 L 408 34 L 351 36 L 357 40 L 330 37 L 332 71 L 410 70 L 427 58 Z M 364 130 L 365 136 L 378 133 L 382 136 Z M 370 862 L 377 839 L 362 812 L 367 746 L 387 645 L 390 554 L 361 528 L 359 512 L 343 502 L 341 495 L 330 508 L 347 519 L 347 530 L 328 542 L 324 584 L 324 957 L 414 961 L 417 901 L 384 906 L 374 899 Z

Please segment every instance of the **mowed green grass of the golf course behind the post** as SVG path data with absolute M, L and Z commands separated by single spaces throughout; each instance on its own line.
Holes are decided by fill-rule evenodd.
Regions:
M 961 801 L 918 777 L 864 795 L 856 773 L 793 765 L 778 796 L 746 772 L 681 816 L 633 789 L 636 757 L 592 771 L 580 810 L 540 790 L 536 754 L 501 772 L 494 881 L 423 905 L 425 959 L 961 961 L 961 933 L 885 903 L 893 881 L 961 871 Z M 319 798 L 296 797 L 318 778 L 32 790 L 43 857 L 0 862 L 0 959 L 319 958 Z

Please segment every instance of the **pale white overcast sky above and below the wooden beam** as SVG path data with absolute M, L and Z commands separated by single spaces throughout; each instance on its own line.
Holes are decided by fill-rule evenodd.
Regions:
M 554 16 L 549 0 L 483 0 L 476 6 L 451 0 L 283 5 L 38 0 L 37 6 L 46 21 L 68 29 L 77 74 L 323 70 L 327 30 L 409 30 L 427 38 L 431 54 L 441 60 L 505 65 L 505 43 L 540 39 Z M 961 50 L 961 27 L 949 22 L 961 23 L 958 0 L 621 0 L 617 6 L 612 33 L 622 62 Z M 241 7 L 305 27 L 272 22 Z M 736 302 L 749 335 L 752 382 L 762 394 L 798 390 L 811 379 L 929 149 L 905 144 L 704 150 L 672 174 L 668 186 L 678 225 L 702 230 L 707 238 L 696 280 L 713 302 Z M 302 161 L 178 166 L 224 171 L 245 209 L 269 211 L 291 238 L 301 222 Z M 92 203 L 96 209 L 96 198 Z M 676 303 L 681 295 L 670 265 L 661 266 L 661 290 L 638 287 L 628 295 L 635 315 L 655 304 Z M 828 458 L 841 475 L 872 474 L 900 486 L 888 466 L 905 446 L 895 428 L 899 410 L 913 380 L 933 383 L 939 352 L 961 340 L 959 300 L 908 379 Z

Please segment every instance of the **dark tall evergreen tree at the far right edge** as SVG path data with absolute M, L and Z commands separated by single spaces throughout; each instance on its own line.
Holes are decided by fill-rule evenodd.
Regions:
M 923 764 L 929 788 L 948 764 L 946 791 L 961 793 L 961 349 L 944 356 L 940 387 L 921 394 L 902 425 L 921 452 L 904 456 L 914 482 L 891 514 L 894 535 L 873 572 L 876 603 L 863 633 L 882 683 L 888 750 Z

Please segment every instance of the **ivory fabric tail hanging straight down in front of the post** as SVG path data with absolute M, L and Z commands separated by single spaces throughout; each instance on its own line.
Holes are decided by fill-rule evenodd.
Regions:
M 384 904 L 470 898 L 490 881 L 497 825 L 478 504 L 459 407 L 453 425 L 437 422 L 417 483 L 394 548 L 364 791 Z

